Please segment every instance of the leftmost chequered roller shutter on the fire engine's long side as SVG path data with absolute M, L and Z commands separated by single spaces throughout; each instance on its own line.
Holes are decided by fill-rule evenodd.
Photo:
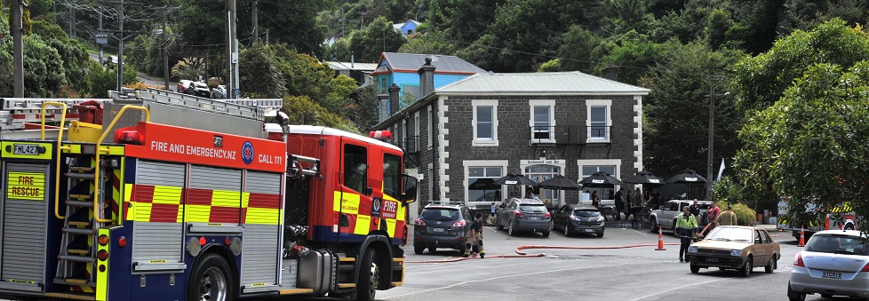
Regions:
M 131 200 L 134 263 L 181 262 L 184 248 L 181 193 L 186 174 L 184 164 L 138 160 Z

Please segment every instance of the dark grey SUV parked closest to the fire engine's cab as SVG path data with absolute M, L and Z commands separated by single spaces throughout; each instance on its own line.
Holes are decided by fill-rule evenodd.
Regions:
M 450 248 L 465 252 L 465 236 L 471 228 L 471 210 L 464 202 L 430 202 L 413 227 L 413 252 Z

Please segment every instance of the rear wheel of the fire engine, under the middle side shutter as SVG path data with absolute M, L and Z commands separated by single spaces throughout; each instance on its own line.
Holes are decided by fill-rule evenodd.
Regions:
M 227 260 L 214 253 L 199 259 L 187 281 L 187 300 L 235 300 L 235 279 Z

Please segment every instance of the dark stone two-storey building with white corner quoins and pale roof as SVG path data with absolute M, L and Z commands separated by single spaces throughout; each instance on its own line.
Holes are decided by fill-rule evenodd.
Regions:
M 595 171 L 625 178 L 642 170 L 648 89 L 580 72 L 480 73 L 434 88 L 431 69 L 419 68 L 424 96 L 375 127 L 392 131 L 406 152 L 406 172 L 422 179 L 419 200 L 500 202 L 531 189 L 491 184 L 508 172 L 542 181 Z M 609 189 L 586 187 L 595 189 L 612 199 Z M 581 197 L 534 192 L 552 207 Z

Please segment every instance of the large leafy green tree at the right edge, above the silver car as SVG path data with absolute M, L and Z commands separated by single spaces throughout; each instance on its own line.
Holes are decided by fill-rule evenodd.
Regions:
M 753 115 L 739 138 L 737 168 L 788 199 L 791 225 L 808 225 L 809 203 L 829 209 L 850 202 L 869 217 L 869 62 L 847 71 L 809 66 L 782 98 Z M 835 218 L 835 217 L 834 217 Z M 869 225 L 858 223 L 861 231 Z

